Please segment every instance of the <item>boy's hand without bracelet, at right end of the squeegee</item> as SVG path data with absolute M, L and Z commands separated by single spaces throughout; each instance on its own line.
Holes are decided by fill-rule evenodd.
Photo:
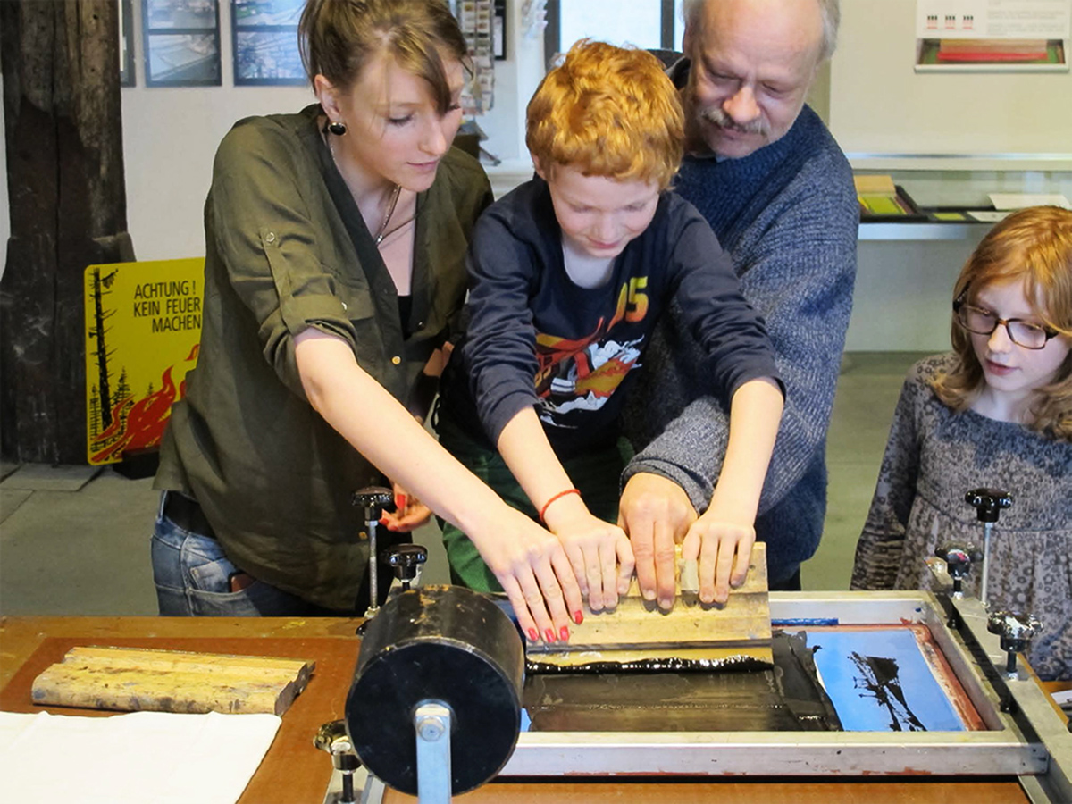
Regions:
M 705 604 L 726 602 L 730 586 L 744 583 L 756 544 L 755 515 L 734 510 L 717 497 L 716 493 L 708 510 L 688 528 L 681 550 L 686 561 L 699 559 L 700 600 Z

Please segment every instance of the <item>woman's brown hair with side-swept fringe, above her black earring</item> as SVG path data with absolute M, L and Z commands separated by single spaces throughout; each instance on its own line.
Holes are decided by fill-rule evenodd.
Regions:
M 308 0 L 298 47 L 310 83 L 323 75 L 341 89 L 384 54 L 428 81 L 441 114 L 451 103 L 442 57 L 467 59 L 465 38 L 444 0 Z

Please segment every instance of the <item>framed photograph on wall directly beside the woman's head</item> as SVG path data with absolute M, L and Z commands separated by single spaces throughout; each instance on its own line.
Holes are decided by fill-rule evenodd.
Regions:
M 235 86 L 300 86 L 298 19 L 304 0 L 230 0 Z

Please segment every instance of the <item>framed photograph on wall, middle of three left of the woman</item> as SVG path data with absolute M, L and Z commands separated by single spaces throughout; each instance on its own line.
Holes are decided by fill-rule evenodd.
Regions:
M 219 87 L 218 0 L 142 0 L 147 87 Z

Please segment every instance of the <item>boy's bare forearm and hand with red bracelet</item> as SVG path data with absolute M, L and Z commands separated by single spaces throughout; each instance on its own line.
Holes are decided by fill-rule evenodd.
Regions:
M 574 483 L 536 412 L 532 407 L 519 411 L 503 428 L 496 447 L 542 512 L 548 530 L 562 541 L 589 608 L 614 608 L 619 595 L 628 592 L 632 576 L 629 540 L 622 528 L 592 516 L 580 494 L 569 491 Z

